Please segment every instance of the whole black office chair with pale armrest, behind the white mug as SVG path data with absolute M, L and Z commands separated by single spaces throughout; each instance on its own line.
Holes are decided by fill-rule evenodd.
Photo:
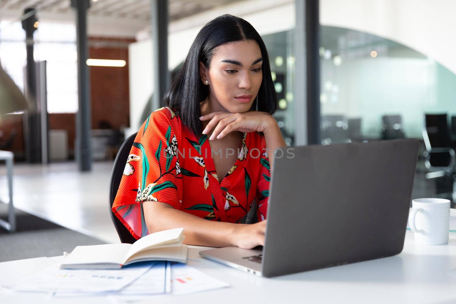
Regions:
M 425 114 L 423 139 L 426 146 L 425 166 L 432 170 L 426 178 L 451 176 L 455 164 L 455 150 L 448 130 L 446 114 Z

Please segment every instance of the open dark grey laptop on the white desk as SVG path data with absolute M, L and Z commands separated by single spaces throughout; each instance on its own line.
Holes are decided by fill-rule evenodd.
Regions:
M 274 151 L 264 247 L 202 257 L 274 277 L 402 251 L 418 140 L 282 149 L 282 157 Z

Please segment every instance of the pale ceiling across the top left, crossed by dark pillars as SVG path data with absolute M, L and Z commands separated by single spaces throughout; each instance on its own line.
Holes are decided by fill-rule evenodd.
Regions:
M 169 21 L 230 5 L 243 0 L 168 0 Z M 70 0 L 0 0 L 0 20 L 21 21 L 26 8 L 35 8 L 40 23 L 73 23 L 75 12 Z M 151 0 L 90 1 L 88 36 L 135 38 L 138 32 L 150 31 Z

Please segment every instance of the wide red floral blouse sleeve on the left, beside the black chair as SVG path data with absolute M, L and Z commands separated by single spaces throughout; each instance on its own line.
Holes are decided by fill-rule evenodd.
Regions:
M 130 150 L 112 211 L 136 239 L 148 234 L 143 203 L 181 209 L 182 177 L 177 152 L 178 117 L 168 108 L 150 114 Z

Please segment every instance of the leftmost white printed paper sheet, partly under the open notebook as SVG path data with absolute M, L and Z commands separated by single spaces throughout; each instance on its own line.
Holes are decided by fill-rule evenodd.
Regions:
M 58 264 L 19 280 L 16 291 L 103 293 L 118 291 L 143 275 L 153 263 L 136 263 L 118 270 L 58 269 Z

